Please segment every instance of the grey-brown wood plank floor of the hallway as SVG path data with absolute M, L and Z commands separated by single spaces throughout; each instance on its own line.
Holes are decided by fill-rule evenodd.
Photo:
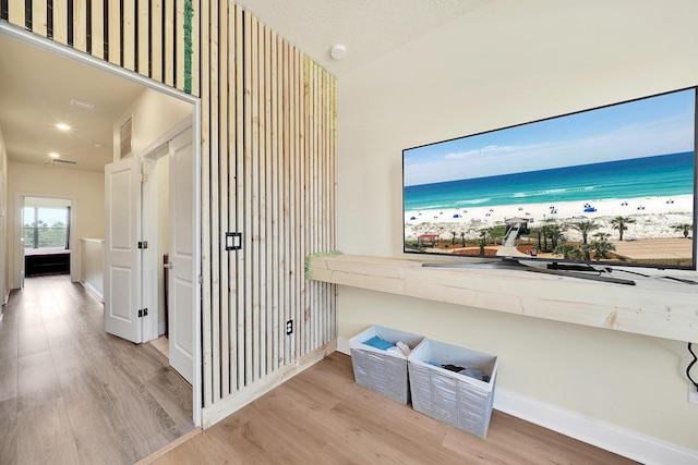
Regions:
M 0 319 L 0 464 L 132 464 L 193 429 L 192 390 L 151 344 L 104 331 L 67 274 L 31 278 Z

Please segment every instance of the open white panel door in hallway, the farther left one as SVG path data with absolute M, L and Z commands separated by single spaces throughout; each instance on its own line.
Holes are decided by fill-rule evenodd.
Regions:
M 141 161 L 105 167 L 105 331 L 143 342 L 141 304 Z

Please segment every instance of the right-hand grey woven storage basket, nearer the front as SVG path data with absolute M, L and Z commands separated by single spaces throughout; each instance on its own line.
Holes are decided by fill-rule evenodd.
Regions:
M 490 381 L 450 371 L 438 365 L 474 368 Z M 408 357 L 412 408 L 484 439 L 488 435 L 497 357 L 425 339 Z

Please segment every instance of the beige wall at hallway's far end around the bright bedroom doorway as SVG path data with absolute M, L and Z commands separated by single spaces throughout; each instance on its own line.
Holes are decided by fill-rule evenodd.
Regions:
M 8 192 L 11 199 L 15 193 L 29 194 L 33 196 L 64 196 L 75 198 L 72 209 L 75 221 L 71 225 L 71 234 L 75 238 L 80 237 L 104 237 L 105 236 L 105 175 L 104 173 L 93 173 L 88 171 L 72 170 L 65 168 L 46 167 L 39 164 L 20 163 L 10 161 L 8 163 Z M 15 233 L 15 211 L 14 200 L 8 203 L 8 241 L 9 250 L 14 246 Z M 74 242 L 76 250 L 76 261 L 80 262 L 79 242 Z M 15 276 L 15 264 L 12 255 L 9 257 L 10 273 Z M 11 283 L 17 287 L 20 283 Z

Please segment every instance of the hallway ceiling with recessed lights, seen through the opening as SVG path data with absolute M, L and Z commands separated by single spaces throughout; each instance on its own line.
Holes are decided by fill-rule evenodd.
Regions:
M 104 172 L 113 124 L 143 86 L 0 34 L 0 129 L 10 161 Z M 71 99 L 94 105 L 71 106 Z M 56 124 L 71 126 L 60 131 Z M 51 161 L 50 152 L 76 166 Z

